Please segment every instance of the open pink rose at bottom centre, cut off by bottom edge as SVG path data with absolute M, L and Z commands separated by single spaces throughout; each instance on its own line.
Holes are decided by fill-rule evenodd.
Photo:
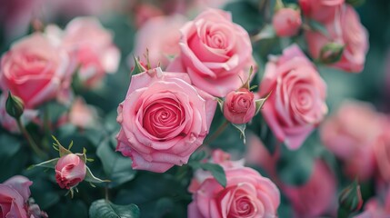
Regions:
M 207 178 L 193 194 L 188 217 L 276 217 L 280 193 L 275 183 L 249 167 L 225 169 L 227 184 Z

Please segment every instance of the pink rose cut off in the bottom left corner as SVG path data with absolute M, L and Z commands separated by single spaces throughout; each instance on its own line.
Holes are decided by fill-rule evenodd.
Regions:
M 16 175 L 0 183 L 0 218 L 27 218 L 26 203 L 30 197 L 30 185 L 25 176 Z M 34 218 L 34 217 L 33 217 Z

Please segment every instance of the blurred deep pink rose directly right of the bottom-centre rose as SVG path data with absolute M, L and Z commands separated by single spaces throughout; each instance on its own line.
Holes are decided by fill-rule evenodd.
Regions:
M 294 207 L 295 217 L 318 217 L 335 210 L 335 175 L 321 160 L 315 161 L 313 173 L 304 185 L 285 185 L 282 190 Z

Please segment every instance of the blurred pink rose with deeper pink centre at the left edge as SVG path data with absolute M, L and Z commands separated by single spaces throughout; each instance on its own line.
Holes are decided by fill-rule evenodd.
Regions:
M 0 87 L 20 97 L 26 108 L 35 108 L 69 88 L 70 68 L 65 50 L 35 33 L 15 42 L 3 55 Z

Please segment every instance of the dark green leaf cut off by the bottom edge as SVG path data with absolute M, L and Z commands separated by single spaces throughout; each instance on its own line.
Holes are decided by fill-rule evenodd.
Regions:
M 91 218 L 137 218 L 140 217 L 139 208 L 134 203 L 129 205 L 115 205 L 105 201 L 97 200 L 89 208 Z

